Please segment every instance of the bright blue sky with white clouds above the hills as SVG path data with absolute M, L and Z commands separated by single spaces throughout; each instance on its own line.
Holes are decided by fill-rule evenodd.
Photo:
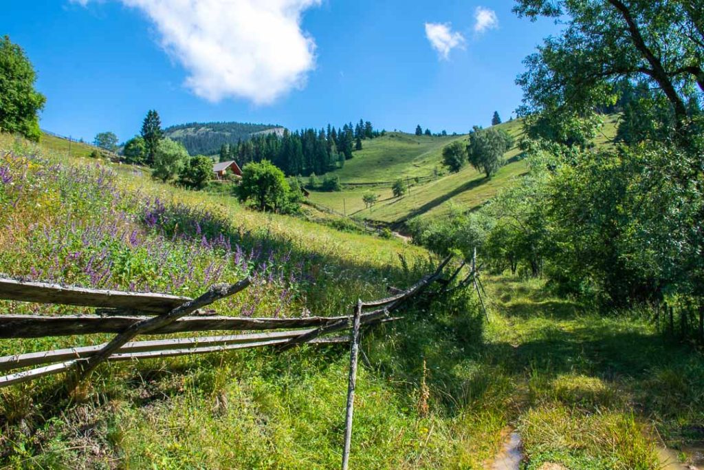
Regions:
M 156 109 L 164 125 L 364 118 L 463 133 L 494 110 L 508 118 L 522 59 L 556 28 L 508 0 L 193 2 L 4 0 L 0 34 L 27 51 L 47 97 L 42 128 L 125 140 Z

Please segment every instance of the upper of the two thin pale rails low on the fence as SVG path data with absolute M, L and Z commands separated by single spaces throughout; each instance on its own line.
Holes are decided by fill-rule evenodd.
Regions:
M 150 340 L 127 342 L 118 352 L 148 352 L 154 350 L 183 349 L 185 347 L 208 347 L 215 345 L 230 345 L 265 340 L 280 340 L 294 338 L 310 330 L 275 331 L 272 333 L 256 333 L 249 335 L 199 336 L 196 338 L 172 338 L 169 340 Z M 106 343 L 94 346 L 68 347 L 61 350 L 28 352 L 0 357 L 0 371 L 17 369 L 19 367 L 51 364 L 52 362 L 82 359 L 101 350 Z

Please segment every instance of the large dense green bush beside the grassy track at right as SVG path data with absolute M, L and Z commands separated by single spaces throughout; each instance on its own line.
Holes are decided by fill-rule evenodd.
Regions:
M 574 288 L 596 283 L 618 305 L 699 295 L 704 177 L 687 168 L 701 164 L 700 155 L 658 145 L 586 154 L 561 168 L 549 186 L 562 248 L 551 275 Z

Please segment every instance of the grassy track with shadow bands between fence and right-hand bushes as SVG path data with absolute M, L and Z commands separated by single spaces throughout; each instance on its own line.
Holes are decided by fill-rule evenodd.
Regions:
M 704 440 L 704 357 L 650 312 L 598 314 L 539 281 L 494 278 L 489 291 L 486 353 L 511 371 L 527 469 L 657 469 L 661 441 Z

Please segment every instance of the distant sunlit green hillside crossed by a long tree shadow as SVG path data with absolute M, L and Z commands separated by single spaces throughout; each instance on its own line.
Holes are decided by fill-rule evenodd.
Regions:
M 598 134 L 597 145 L 608 144 L 615 135 L 615 116 L 608 116 Z M 513 120 L 498 126 L 515 137 L 516 143 L 522 136 L 522 121 Z M 416 137 L 408 134 L 392 133 L 370 142 L 365 149 L 355 153 L 355 158 L 346 163 L 345 168 L 335 172 L 342 183 L 366 181 L 393 181 L 396 178 L 413 178 L 432 175 L 434 168 L 440 168 L 442 147 L 453 140 L 467 140 L 467 136 Z M 425 146 L 432 148 L 427 149 Z M 441 175 L 438 180 L 411 187 L 410 194 L 401 199 L 393 197 L 391 187 L 355 188 L 341 192 L 313 192 L 310 199 L 338 212 L 374 221 L 398 223 L 415 216 L 442 217 L 448 214 L 451 204 L 464 210 L 474 209 L 494 197 L 511 184 L 513 178 L 526 171 L 525 162 L 518 160 L 517 147 L 505 154 L 508 162 L 493 178 L 486 180 L 472 166 L 465 166 L 458 173 Z M 370 191 L 379 196 L 379 202 L 367 209 L 362 200 L 363 194 Z

